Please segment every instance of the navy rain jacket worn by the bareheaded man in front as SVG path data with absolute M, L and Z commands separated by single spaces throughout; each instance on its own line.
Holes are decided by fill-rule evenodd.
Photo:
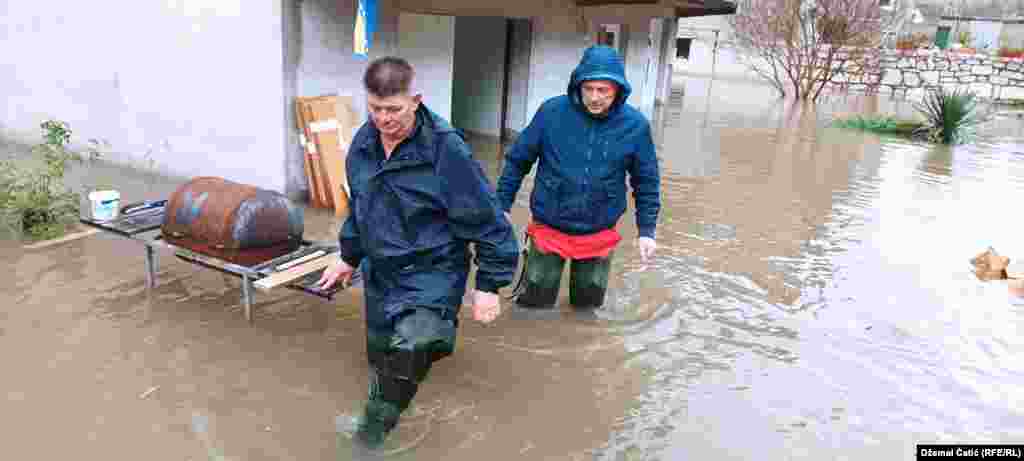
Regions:
M 341 258 L 364 275 L 367 321 L 392 328 L 415 306 L 458 316 L 475 244 L 476 289 L 497 293 L 518 264 L 519 243 L 469 146 L 420 104 L 413 134 L 385 160 L 370 121 L 346 159 L 350 214 Z

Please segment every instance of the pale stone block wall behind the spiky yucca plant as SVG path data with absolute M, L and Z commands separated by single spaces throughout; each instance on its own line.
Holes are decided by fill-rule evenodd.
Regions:
M 881 56 L 878 89 L 894 96 L 920 98 L 940 86 L 968 88 L 987 99 L 1024 99 L 1024 59 L 955 51 L 886 50 Z

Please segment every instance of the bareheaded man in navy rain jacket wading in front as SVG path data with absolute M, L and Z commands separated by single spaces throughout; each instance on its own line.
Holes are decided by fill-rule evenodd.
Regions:
M 383 57 L 364 76 L 371 121 L 346 160 L 350 215 L 339 236 L 341 262 L 321 286 L 347 280 L 361 263 L 370 395 L 356 435 L 381 444 L 433 362 L 455 348 L 475 244 L 473 317 L 500 311 L 519 245 L 469 146 L 412 94 L 413 68 Z

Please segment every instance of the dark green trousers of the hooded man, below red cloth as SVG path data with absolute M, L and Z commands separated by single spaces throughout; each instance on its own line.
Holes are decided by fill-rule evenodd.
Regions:
M 608 290 L 611 258 L 573 259 L 569 261 L 569 303 L 574 307 L 594 308 L 604 304 Z M 556 253 L 544 253 L 530 241 L 526 253 L 523 292 L 516 299 L 525 307 L 552 307 L 558 299 L 565 259 Z

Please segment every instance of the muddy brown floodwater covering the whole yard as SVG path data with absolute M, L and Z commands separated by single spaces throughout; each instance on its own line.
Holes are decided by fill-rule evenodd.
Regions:
M 640 263 L 631 209 L 602 309 L 489 326 L 466 309 L 396 459 L 910 460 L 918 443 L 1024 442 L 1024 302 L 968 263 L 989 245 L 1024 257 L 1020 119 L 933 146 L 826 128 L 904 102 L 812 110 L 683 76 L 664 109 L 656 258 Z M 495 178 L 501 148 L 474 146 Z M 133 197 L 177 183 L 101 173 Z M 334 238 L 336 219 L 306 214 L 307 238 Z M 142 248 L 117 237 L 5 243 L 0 260 L 5 459 L 348 459 L 358 289 L 257 292 L 249 325 L 238 280 L 159 252 L 146 290 Z

